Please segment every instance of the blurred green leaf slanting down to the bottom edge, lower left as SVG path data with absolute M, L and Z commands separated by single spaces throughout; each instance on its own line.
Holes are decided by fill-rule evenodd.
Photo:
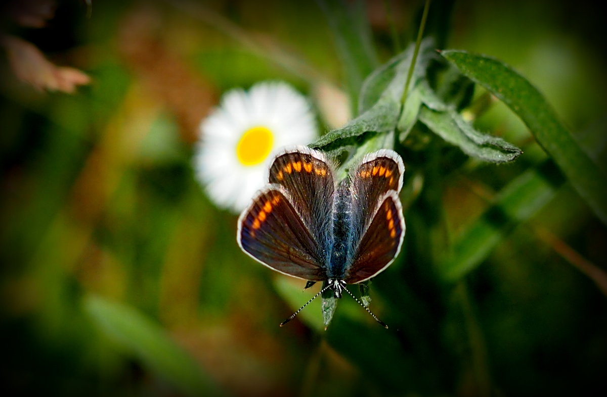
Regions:
M 189 396 L 222 395 L 192 356 L 158 324 L 137 310 L 100 296 L 87 296 L 86 312 L 98 329 L 144 365 Z

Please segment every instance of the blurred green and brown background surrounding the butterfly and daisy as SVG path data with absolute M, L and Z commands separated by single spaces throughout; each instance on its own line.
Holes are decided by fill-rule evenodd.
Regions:
M 364 5 L 384 62 L 395 47 L 390 19 L 404 46 L 422 4 Z M 442 32 L 444 48 L 520 71 L 607 172 L 605 24 L 594 7 L 435 1 L 429 30 Z M 503 104 L 475 125 L 523 148 L 513 164 L 472 161 L 423 131 L 398 148 L 412 187 L 402 194 L 407 235 L 371 285 L 371 310 L 390 329 L 347 297 L 327 331 L 317 329 L 317 306 L 279 328 L 311 292 L 240 252 L 237 216 L 195 181 L 193 144 L 222 92 L 266 79 L 309 95 L 322 132 L 336 127 L 319 93 L 343 87 L 343 68 L 319 6 L 59 1 L 43 28 L 3 18 L 5 33 L 92 78 L 72 94 L 41 92 L 2 55 L 7 395 L 605 390 L 607 229 Z M 336 98 L 330 105 L 347 106 Z M 522 219 L 479 218 L 539 164 L 549 185 Z M 464 278 L 444 281 L 444 251 L 479 219 L 497 230 L 494 249 Z

